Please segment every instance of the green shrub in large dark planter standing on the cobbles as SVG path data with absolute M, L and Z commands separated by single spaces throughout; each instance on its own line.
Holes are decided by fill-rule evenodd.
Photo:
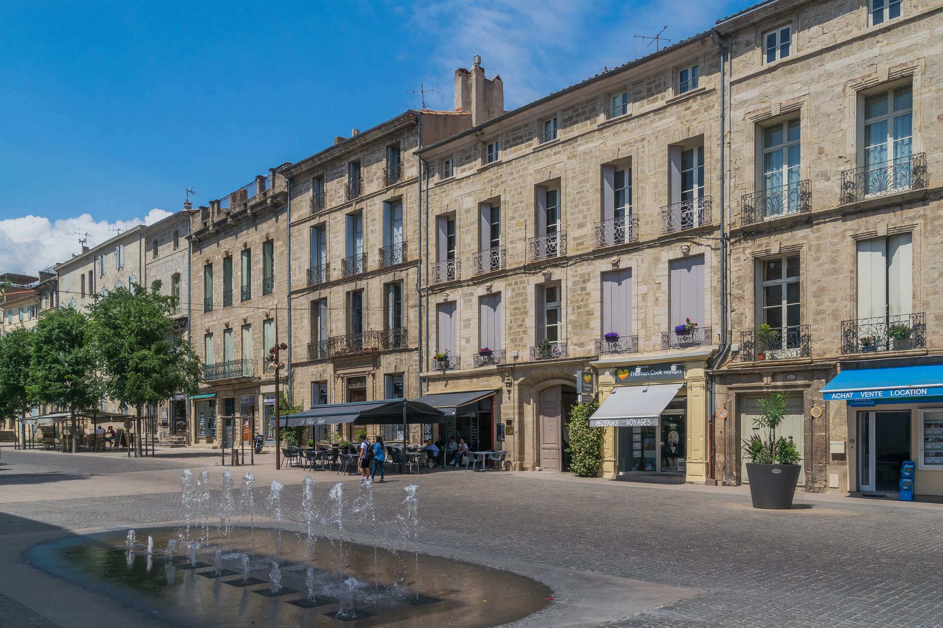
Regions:
M 791 436 L 776 436 L 776 428 L 786 418 L 786 395 L 773 393 L 759 403 L 762 413 L 753 419 L 753 425 L 766 429 L 767 438 L 753 434 L 743 442 L 743 453 L 750 458 L 746 467 L 753 507 L 791 508 L 802 458 Z

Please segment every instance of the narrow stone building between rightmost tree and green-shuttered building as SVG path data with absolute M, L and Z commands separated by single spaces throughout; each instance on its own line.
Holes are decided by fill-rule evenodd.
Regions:
M 189 203 L 188 203 L 189 204 Z M 157 221 L 144 229 L 144 281 L 150 288 L 160 282 L 160 292 L 176 298 L 174 336 L 190 340 L 190 208 Z M 153 409 L 157 436 L 164 443 L 190 441 L 190 402 L 186 395 L 161 403 Z

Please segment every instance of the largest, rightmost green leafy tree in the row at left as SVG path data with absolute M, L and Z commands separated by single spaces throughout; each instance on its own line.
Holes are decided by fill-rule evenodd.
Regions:
M 89 337 L 105 391 L 137 411 L 135 450 L 141 456 L 141 414 L 181 393 L 192 395 L 203 377 L 190 343 L 174 338 L 176 298 L 160 294 L 160 282 L 115 288 L 90 308 Z

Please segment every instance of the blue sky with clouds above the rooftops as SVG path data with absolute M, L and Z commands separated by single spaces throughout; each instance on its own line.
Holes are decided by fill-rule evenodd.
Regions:
M 743 0 L 4 3 L 0 271 L 205 204 L 352 128 L 453 107 L 483 57 L 513 108 L 684 39 Z M 119 221 L 123 221 L 119 223 Z M 113 233 L 111 233 L 113 235 Z M 34 267 L 35 266 L 35 267 Z

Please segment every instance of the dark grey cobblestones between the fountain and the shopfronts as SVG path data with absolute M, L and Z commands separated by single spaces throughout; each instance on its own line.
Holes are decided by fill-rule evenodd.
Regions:
M 73 460 L 58 470 L 69 473 Z M 377 516 L 391 518 L 402 489 L 415 482 L 421 540 L 471 560 L 476 552 L 502 554 L 703 591 L 609 628 L 943 626 L 943 507 L 849 499 L 766 511 L 740 495 L 538 474 L 388 477 L 373 487 Z M 0 487 L 2 481 L 0 475 Z M 328 487 L 317 485 L 319 498 Z M 356 479 L 345 488 L 356 491 Z M 297 520 L 300 499 L 301 487 L 285 488 L 287 520 Z M 11 527 L 4 513 L 14 516 Z M 42 524 L 141 526 L 180 518 L 176 495 L 141 487 L 133 496 L 0 505 L 0 535 Z

